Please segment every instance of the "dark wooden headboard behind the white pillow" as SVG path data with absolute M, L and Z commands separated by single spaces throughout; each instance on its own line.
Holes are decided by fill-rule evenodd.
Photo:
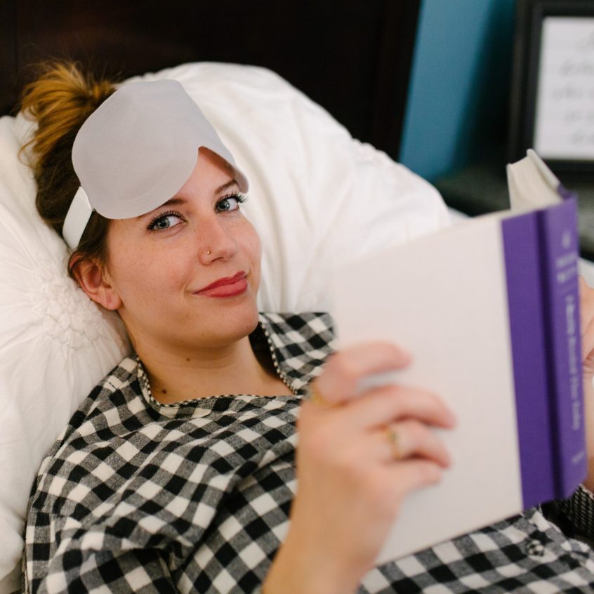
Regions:
M 214 60 L 268 67 L 396 158 L 421 0 L 0 0 L 0 114 L 33 62 L 108 75 Z

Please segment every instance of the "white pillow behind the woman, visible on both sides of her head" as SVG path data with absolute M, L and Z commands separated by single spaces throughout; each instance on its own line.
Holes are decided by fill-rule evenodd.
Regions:
M 433 187 L 268 70 L 203 62 L 144 78 L 182 82 L 249 177 L 242 208 L 263 242 L 262 310 L 325 310 L 333 263 L 448 221 Z M 119 319 L 67 277 L 65 244 L 37 215 L 17 157 L 30 128 L 22 116 L 0 119 L 0 593 L 18 587 L 41 458 L 128 351 Z

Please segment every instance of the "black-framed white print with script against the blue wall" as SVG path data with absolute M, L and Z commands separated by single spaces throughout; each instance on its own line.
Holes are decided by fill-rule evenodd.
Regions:
M 594 1 L 517 0 L 509 140 L 594 175 Z

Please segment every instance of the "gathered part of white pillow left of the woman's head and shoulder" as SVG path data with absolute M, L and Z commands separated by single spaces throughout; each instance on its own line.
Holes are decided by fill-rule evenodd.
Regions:
M 117 316 L 67 276 L 66 246 L 37 215 L 32 173 L 18 160 L 28 128 L 22 117 L 0 119 L 0 587 L 12 590 L 39 463 L 128 350 Z

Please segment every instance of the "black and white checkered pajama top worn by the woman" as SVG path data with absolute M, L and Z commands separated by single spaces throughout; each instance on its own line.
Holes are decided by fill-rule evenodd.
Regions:
M 289 527 L 295 422 L 331 352 L 331 318 L 260 315 L 252 338 L 293 396 L 159 404 L 133 358 L 91 392 L 37 477 L 27 592 L 258 591 Z M 579 489 L 550 508 L 555 523 L 528 510 L 377 567 L 359 593 L 593 591 L 594 550 L 580 538 L 594 536 L 593 509 Z

